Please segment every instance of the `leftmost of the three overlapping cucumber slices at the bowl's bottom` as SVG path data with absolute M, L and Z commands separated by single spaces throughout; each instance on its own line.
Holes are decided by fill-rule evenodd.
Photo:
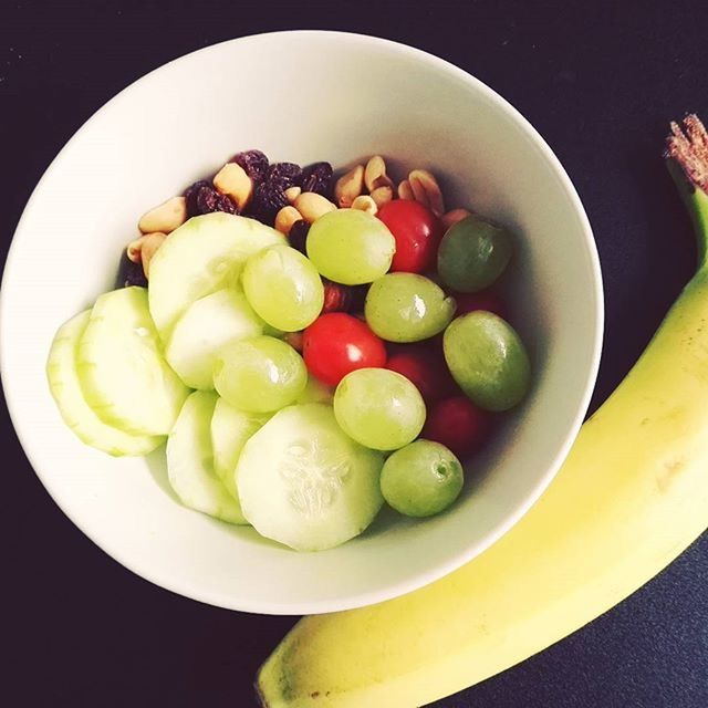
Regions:
M 246 523 L 239 502 L 214 471 L 211 416 L 218 396 L 194 392 L 167 438 L 167 478 L 185 507 L 229 523 Z

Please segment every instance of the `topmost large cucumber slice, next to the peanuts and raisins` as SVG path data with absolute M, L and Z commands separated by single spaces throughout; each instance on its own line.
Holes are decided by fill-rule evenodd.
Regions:
M 150 261 L 150 313 L 163 339 L 195 300 L 235 285 L 249 256 L 284 242 L 275 229 L 221 211 L 175 229 Z

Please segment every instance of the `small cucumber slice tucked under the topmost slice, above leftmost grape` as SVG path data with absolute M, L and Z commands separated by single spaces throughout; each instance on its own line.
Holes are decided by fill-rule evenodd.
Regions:
M 165 357 L 187 386 L 214 389 L 214 365 L 231 342 L 263 333 L 246 295 L 225 288 L 192 302 L 177 320 Z

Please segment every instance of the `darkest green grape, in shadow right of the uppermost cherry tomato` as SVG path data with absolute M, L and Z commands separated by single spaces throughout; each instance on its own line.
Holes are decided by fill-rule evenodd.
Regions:
M 438 273 L 454 290 L 477 292 L 501 275 L 512 250 L 512 236 L 507 229 L 471 215 L 442 237 Z

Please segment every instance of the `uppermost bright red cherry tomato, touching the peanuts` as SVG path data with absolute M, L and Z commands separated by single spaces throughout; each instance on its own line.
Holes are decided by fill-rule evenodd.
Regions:
M 376 216 L 396 239 L 392 271 L 423 273 L 435 268 L 442 228 L 430 209 L 409 199 L 394 199 Z

